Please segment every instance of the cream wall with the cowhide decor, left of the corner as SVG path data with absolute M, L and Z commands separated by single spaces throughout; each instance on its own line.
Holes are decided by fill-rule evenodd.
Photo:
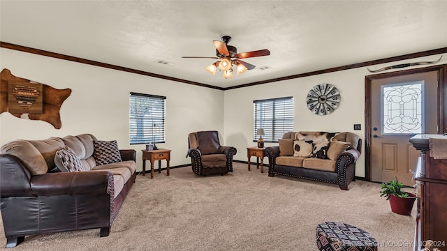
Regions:
M 129 144 L 130 92 L 166 96 L 166 143 L 157 146 L 172 150 L 170 166 L 191 164 L 185 158 L 189 132 L 223 132 L 223 91 L 3 48 L 0 53 L 1 69 L 56 89 L 72 90 L 60 110 L 59 130 L 45 121 L 0 114 L 0 145 L 15 139 L 91 133 L 101 140 L 117 139 L 120 149 L 135 149 L 141 170 L 145 145 Z

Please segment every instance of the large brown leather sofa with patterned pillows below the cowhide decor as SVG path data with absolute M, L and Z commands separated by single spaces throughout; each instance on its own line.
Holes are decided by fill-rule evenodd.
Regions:
M 24 236 L 100 228 L 135 182 L 135 150 L 89 134 L 16 140 L 1 147 L 0 207 L 6 247 Z

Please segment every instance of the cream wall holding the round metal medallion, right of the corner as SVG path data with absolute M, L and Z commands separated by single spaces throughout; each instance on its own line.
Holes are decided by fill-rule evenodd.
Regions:
M 411 59 L 410 62 L 434 61 L 439 59 L 439 56 Z M 409 60 L 368 66 L 368 68 L 375 70 L 400 63 L 409 63 Z M 437 64 L 443 63 L 447 63 L 446 56 Z M 252 135 L 254 126 L 253 100 L 293 96 L 294 131 L 347 131 L 355 132 L 362 138 L 363 154 L 356 162 L 356 176 L 365 177 L 365 76 L 367 75 L 372 75 L 372 73 L 369 73 L 366 68 L 355 68 L 225 91 L 225 138 L 228 145 L 235 146 L 237 149 L 237 155 L 234 159 L 247 161 L 247 146 L 256 146 Z M 307 109 L 306 104 L 309 90 L 313 86 L 323 83 L 335 85 L 342 96 L 339 107 L 332 114 L 325 116 L 313 114 Z M 355 123 L 359 123 L 362 130 L 353 130 Z M 275 144 L 265 143 L 265 146 L 272 145 Z M 255 161 L 254 158 L 251 161 Z M 268 159 L 265 158 L 264 162 L 268 163 Z

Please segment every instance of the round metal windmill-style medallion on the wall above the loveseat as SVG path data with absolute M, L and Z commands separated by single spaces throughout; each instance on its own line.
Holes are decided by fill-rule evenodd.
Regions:
M 317 84 L 307 93 L 307 108 L 314 114 L 334 112 L 340 104 L 340 92 L 332 84 Z

